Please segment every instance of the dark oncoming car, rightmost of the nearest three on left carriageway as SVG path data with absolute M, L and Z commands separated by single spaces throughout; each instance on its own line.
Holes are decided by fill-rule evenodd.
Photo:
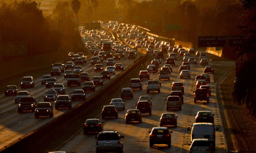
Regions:
M 55 103 L 55 109 L 61 108 L 72 108 L 72 100 L 69 98 L 69 95 L 58 95 Z

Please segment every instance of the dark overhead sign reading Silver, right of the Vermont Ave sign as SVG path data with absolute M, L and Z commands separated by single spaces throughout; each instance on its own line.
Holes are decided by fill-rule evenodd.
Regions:
M 227 45 L 228 46 L 241 46 L 248 41 L 248 35 L 228 35 Z

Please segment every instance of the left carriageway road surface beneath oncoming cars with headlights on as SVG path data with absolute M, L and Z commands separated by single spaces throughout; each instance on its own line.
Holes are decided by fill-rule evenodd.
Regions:
M 98 36 L 97 36 L 98 38 Z M 99 38 L 98 38 L 99 39 Z M 91 39 L 90 39 L 91 40 Z M 91 40 L 91 42 L 93 42 Z M 139 55 L 137 58 L 141 55 Z M 83 72 L 88 72 L 90 74 L 90 78 L 93 78 L 93 76 L 100 76 L 99 71 L 94 72 L 93 65 L 90 63 L 91 55 L 87 57 L 87 63 L 83 65 Z M 128 60 L 127 56 L 125 58 L 121 58 L 121 60 L 116 60 L 116 63 L 123 63 L 124 69 L 126 69 L 129 65 L 133 64 L 133 60 Z M 64 64 L 64 63 L 63 63 Z M 104 68 L 106 68 L 106 60 L 103 62 Z M 45 71 L 44 74 L 50 74 L 50 65 L 49 65 L 49 71 Z M 120 71 L 116 71 L 116 74 L 111 75 L 111 78 L 117 77 L 118 74 L 120 74 Z M 27 73 L 25 76 L 31 76 L 31 74 Z M 23 76 L 20 76 L 20 79 Z M 61 74 L 61 76 L 53 76 L 57 79 L 58 83 L 63 83 L 66 87 L 66 94 L 69 94 L 71 96 L 71 92 L 75 89 L 82 89 L 81 86 L 71 86 L 67 87 L 67 79 L 64 78 L 64 73 Z M 111 82 L 112 79 L 104 79 L 104 85 L 103 86 L 97 86 L 96 91 Z M 83 83 L 82 83 L 83 84 Z M 11 84 L 8 85 L 16 85 L 20 87 L 19 82 L 11 82 Z M 51 88 L 46 88 L 45 85 L 41 85 L 41 78 L 35 78 L 35 87 L 34 88 L 28 88 L 28 89 L 20 89 L 19 91 L 29 91 L 30 96 L 36 97 L 38 102 L 44 101 L 44 93 L 47 90 L 50 90 Z M 93 96 L 94 93 L 86 93 L 86 98 Z M 60 109 L 55 110 L 54 109 L 54 115 L 53 118 L 44 118 L 40 117 L 38 119 L 34 118 L 34 113 L 31 111 L 25 111 L 23 113 L 18 113 L 17 106 L 18 104 L 14 103 L 14 97 L 15 96 L 4 96 L 4 93 L 0 94 L 0 148 L 3 148 L 4 146 L 10 144 L 11 142 L 21 138 L 22 136 L 25 136 L 27 133 L 45 125 L 46 123 L 52 121 L 53 119 L 58 118 L 60 115 L 64 114 L 65 112 L 69 111 L 67 109 Z M 79 103 L 83 101 L 73 101 L 72 107 L 75 107 Z M 54 106 L 54 102 L 51 101 L 52 105 Z

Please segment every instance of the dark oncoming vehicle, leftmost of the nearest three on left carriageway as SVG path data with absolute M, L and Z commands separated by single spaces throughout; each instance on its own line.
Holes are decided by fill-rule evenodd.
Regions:
M 18 113 L 23 110 L 32 110 L 34 112 L 35 107 L 37 107 L 37 99 L 35 97 L 21 97 L 18 104 Z

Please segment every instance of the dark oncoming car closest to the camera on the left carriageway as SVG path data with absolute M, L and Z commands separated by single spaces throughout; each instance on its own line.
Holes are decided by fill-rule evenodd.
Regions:
M 39 116 L 53 117 L 53 106 L 50 102 L 39 102 L 35 107 L 35 118 Z

